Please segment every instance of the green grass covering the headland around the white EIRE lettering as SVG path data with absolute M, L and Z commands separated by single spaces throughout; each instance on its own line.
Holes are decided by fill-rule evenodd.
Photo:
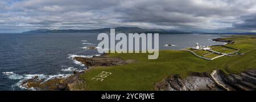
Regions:
M 236 39 L 236 43 L 228 46 L 239 48 L 241 52 L 256 48 L 256 39 L 248 37 L 233 37 L 233 39 Z M 256 50 L 242 56 L 224 56 L 213 61 L 200 59 L 186 51 L 162 50 L 157 60 L 147 60 L 147 55 L 110 54 L 123 59 L 135 59 L 137 63 L 89 69 L 81 76 L 86 81 L 86 90 L 154 90 L 155 82 L 171 74 L 181 74 L 185 77 L 188 72 L 211 72 L 214 69 L 224 70 L 225 73 L 240 73 L 256 67 Z M 102 71 L 113 74 L 102 82 L 92 80 Z

